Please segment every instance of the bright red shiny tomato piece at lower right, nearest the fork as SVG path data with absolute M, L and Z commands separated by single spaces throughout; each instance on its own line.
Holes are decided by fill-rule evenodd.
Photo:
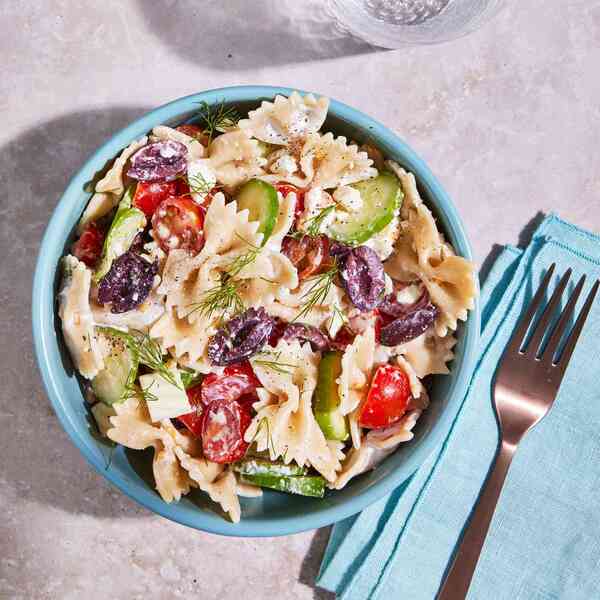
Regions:
M 375 371 L 358 422 L 369 429 L 388 427 L 402 418 L 411 399 L 408 375 L 400 367 L 382 365 Z

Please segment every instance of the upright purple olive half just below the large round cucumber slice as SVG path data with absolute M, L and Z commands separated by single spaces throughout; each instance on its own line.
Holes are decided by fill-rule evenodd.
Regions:
M 376 252 L 368 246 L 350 248 L 336 243 L 329 253 L 337 258 L 340 279 L 352 304 L 362 311 L 376 308 L 385 290 L 383 264 Z

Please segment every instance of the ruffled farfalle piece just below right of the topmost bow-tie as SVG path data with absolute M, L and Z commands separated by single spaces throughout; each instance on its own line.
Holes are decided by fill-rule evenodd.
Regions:
M 324 190 L 376 177 L 377 169 L 372 165 L 366 152 L 332 133 L 309 135 L 300 158 L 302 171 L 312 176 L 311 185 Z

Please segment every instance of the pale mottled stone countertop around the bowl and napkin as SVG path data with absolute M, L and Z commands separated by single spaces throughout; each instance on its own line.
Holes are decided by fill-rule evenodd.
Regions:
M 328 530 L 231 539 L 150 514 L 92 472 L 34 365 L 31 276 L 48 216 L 101 142 L 202 89 L 274 84 L 397 131 L 453 197 L 478 263 L 540 211 L 600 230 L 600 2 L 512 0 L 456 42 L 373 49 L 320 0 L 5 0 L 0 6 L 0 598 L 329 598 Z M 523 233 L 525 231 L 525 233 Z

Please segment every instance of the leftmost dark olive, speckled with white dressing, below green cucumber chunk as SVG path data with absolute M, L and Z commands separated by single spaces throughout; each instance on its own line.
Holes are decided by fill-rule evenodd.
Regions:
M 149 263 L 129 250 L 116 258 L 98 286 L 98 301 L 111 303 L 110 312 L 123 313 L 139 306 L 150 293 L 158 261 Z

